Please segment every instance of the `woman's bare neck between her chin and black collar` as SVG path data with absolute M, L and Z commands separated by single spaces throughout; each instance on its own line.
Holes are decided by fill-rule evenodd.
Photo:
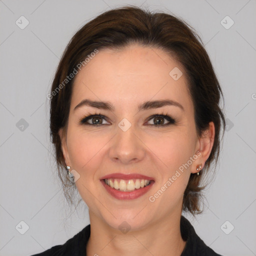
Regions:
M 184 249 L 180 233 L 180 212 L 161 218 L 139 230 L 121 233 L 93 213 L 86 255 L 180 255 Z

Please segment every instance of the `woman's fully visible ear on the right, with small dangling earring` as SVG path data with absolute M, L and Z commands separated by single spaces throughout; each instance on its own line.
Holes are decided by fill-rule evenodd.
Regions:
M 197 159 L 193 162 L 191 173 L 196 173 L 196 168 L 201 165 L 201 169 L 204 167 L 205 161 L 208 159 L 215 136 L 215 127 L 213 122 L 209 122 L 208 128 L 202 132 L 196 143 L 196 155 Z

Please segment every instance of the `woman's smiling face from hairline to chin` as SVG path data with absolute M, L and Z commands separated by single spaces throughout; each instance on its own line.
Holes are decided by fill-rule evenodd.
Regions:
M 77 106 L 84 99 L 112 108 Z M 161 100 L 169 103 L 143 104 Z M 65 162 L 79 174 L 75 184 L 90 216 L 113 228 L 126 221 L 136 229 L 180 215 L 189 175 L 197 164 L 203 167 L 211 149 L 196 135 L 193 111 L 185 70 L 161 49 L 129 45 L 99 50 L 90 59 L 73 84 L 66 133 L 59 131 Z M 112 176 L 119 186 L 120 179 L 141 184 L 139 175 L 151 181 L 135 192 L 132 184 L 129 191 L 113 192 L 101 180 L 113 173 L 131 174 L 116 175 L 116 181 Z

